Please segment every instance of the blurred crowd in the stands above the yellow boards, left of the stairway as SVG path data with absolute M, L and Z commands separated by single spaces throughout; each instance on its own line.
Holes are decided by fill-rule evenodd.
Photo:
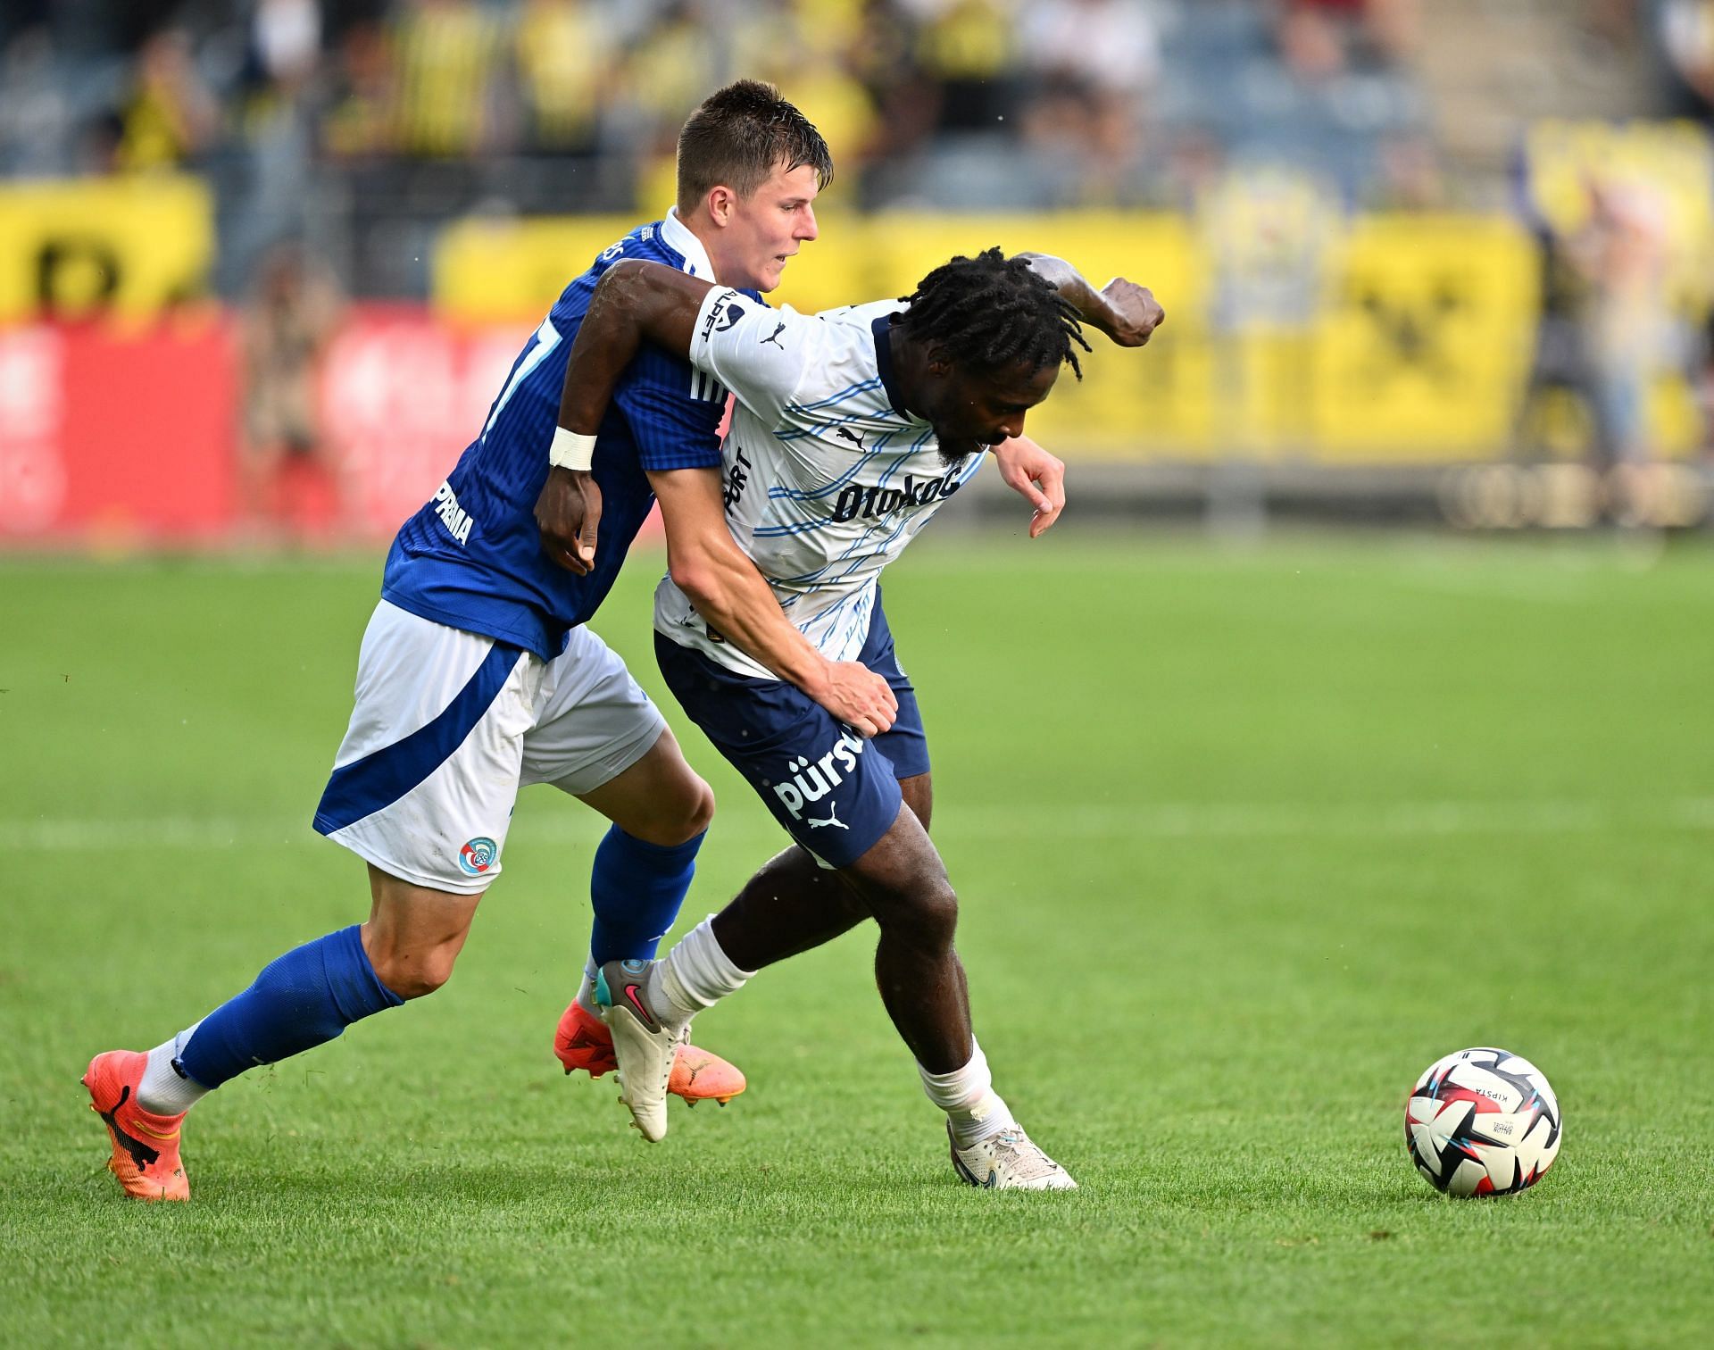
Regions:
M 1227 151 L 1433 197 L 1419 0 L 12 0 L 0 173 L 190 168 L 223 290 L 358 216 L 651 211 L 747 74 L 811 108 L 864 209 L 1171 204 Z M 307 194 L 315 185 L 319 192 Z M 358 223 L 362 230 L 363 223 Z M 408 224 L 398 226 L 408 230 Z M 413 278 L 365 269 L 387 293 Z

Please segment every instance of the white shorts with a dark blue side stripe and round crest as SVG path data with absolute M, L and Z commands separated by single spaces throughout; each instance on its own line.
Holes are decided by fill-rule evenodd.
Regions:
M 315 829 L 401 881 L 480 894 L 500 874 L 518 788 L 593 791 L 663 730 L 586 627 L 543 661 L 382 600 Z

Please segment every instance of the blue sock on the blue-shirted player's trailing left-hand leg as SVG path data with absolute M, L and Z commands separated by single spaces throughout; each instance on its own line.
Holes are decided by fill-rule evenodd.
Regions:
M 202 1019 L 177 1066 L 204 1088 L 218 1088 L 245 1069 L 309 1050 L 401 1002 L 369 965 L 362 930 L 353 923 L 267 965 L 254 985 Z

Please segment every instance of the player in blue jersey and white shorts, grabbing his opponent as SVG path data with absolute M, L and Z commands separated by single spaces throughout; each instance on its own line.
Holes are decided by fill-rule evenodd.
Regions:
M 571 341 L 614 262 L 646 259 L 754 298 L 816 238 L 812 200 L 830 173 L 826 144 L 790 103 L 754 82 L 728 86 L 684 127 L 675 211 L 605 250 L 524 344 L 480 435 L 394 540 L 351 723 L 315 812 L 317 831 L 369 863 L 369 920 L 279 956 L 154 1050 L 91 1060 L 84 1083 L 129 1194 L 189 1198 L 178 1136 L 209 1090 L 447 980 L 500 874 L 521 785 L 552 783 L 614 822 L 595 855 L 586 970 L 655 953 L 689 886 L 713 793 L 586 627 L 655 497 L 674 574 L 711 622 L 830 716 L 864 733 L 891 725 L 884 678 L 821 656 L 727 531 L 723 389 L 682 356 L 639 353 L 591 437 L 557 432 Z M 578 490 L 567 466 L 588 469 L 605 500 L 598 559 L 542 548 L 533 509 L 557 487 Z M 567 1072 L 612 1064 L 584 983 L 555 1042 Z M 698 1081 L 679 1083 L 686 1095 L 742 1088 L 718 1057 L 687 1069 L 696 1072 L 680 1078 Z

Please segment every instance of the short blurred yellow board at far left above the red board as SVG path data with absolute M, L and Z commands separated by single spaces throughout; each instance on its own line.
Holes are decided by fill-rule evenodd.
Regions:
M 0 322 L 146 319 L 204 295 L 214 200 L 197 178 L 0 185 Z

